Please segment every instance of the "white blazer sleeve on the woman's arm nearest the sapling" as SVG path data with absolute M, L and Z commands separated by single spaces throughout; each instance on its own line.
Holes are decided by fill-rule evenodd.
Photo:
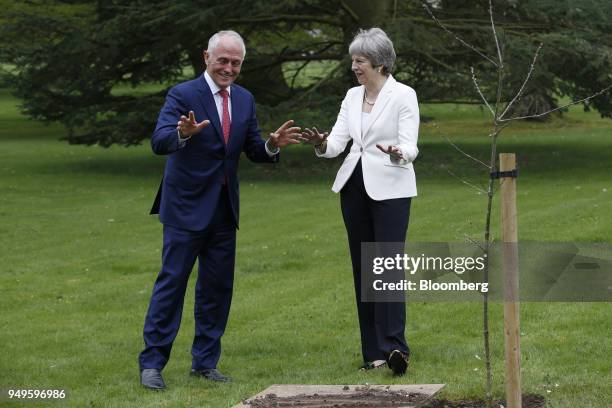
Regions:
M 403 158 L 399 164 L 412 163 L 419 154 L 417 141 L 419 138 L 419 103 L 416 92 L 409 89 L 399 110 L 397 125 L 399 143 L 397 147 L 402 151 Z

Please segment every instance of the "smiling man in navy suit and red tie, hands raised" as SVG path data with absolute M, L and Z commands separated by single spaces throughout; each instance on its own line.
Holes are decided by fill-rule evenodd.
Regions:
M 191 374 L 231 381 L 217 370 L 221 336 L 232 298 L 238 228 L 238 159 L 275 163 L 280 148 L 299 143 L 300 128 L 286 122 L 260 136 L 253 95 L 233 82 L 245 46 L 234 31 L 213 35 L 204 52 L 206 71 L 168 92 L 151 146 L 168 155 L 151 213 L 163 224 L 162 267 L 144 325 L 140 381 L 165 388 L 161 370 L 170 357 L 181 322 L 187 281 L 198 260 L 195 338 Z M 197 119 L 201 120 L 198 122 Z

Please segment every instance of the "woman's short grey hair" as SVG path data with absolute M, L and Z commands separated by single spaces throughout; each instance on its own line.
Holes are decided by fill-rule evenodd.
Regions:
M 349 54 L 364 55 L 375 68 L 382 67 L 382 73 L 385 75 L 389 75 L 395 65 L 393 43 L 378 27 L 359 30 L 349 46 Z

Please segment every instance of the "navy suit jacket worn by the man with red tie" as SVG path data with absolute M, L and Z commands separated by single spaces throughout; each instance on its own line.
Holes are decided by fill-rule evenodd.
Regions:
M 204 75 L 176 85 L 168 92 L 151 138 L 156 154 L 168 155 L 164 177 L 151 208 L 163 224 L 201 231 L 209 224 L 225 179 L 236 228 L 239 219 L 238 159 L 244 151 L 254 162 L 277 162 L 270 157 L 260 135 L 253 95 L 231 85 L 232 122 L 225 144 L 219 113 Z M 210 125 L 179 147 L 177 123 L 194 112 L 198 122 Z

